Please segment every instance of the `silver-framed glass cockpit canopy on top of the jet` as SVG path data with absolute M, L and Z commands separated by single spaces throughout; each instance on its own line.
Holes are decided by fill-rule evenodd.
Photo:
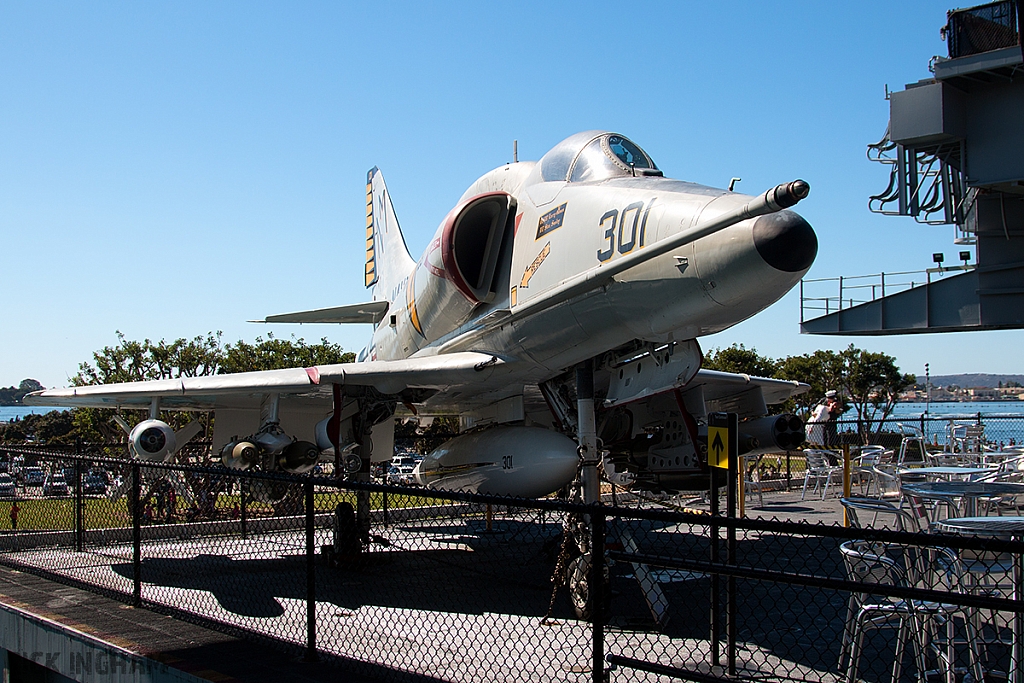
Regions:
M 594 182 L 624 176 L 660 176 L 654 161 L 627 137 L 588 131 L 567 137 L 541 160 L 548 181 Z

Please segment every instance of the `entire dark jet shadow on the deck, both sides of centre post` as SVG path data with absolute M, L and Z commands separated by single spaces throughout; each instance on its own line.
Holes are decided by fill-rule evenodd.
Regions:
M 609 526 L 614 541 L 616 526 Z M 700 533 L 665 528 L 656 522 L 630 523 L 641 552 L 705 559 L 709 542 Z M 548 613 L 552 573 L 561 548 L 560 525 L 496 522 L 483 532 L 482 522 L 396 526 L 390 547 L 371 552 L 342 567 L 316 565 L 316 600 L 340 610 L 364 606 L 463 614 L 511 614 L 543 617 Z M 525 530 L 524 530 L 525 529 Z M 258 541 L 254 540 L 254 543 Z M 762 536 L 741 540 L 741 563 L 779 572 L 808 572 L 841 578 L 835 545 L 821 539 Z M 253 552 L 250 550 L 249 552 Z M 258 552 L 258 551 L 257 551 Z M 210 593 L 227 611 L 246 617 L 276 617 L 285 613 L 282 599 L 306 597 L 304 555 L 234 558 L 201 554 L 188 558 L 144 557 L 141 578 L 155 586 L 146 592 L 158 602 L 197 609 L 186 599 L 161 595 L 161 588 Z M 113 565 L 131 579 L 132 565 Z M 676 572 L 660 584 L 669 603 L 668 625 L 657 627 L 631 563 L 610 570 L 611 623 L 618 628 L 658 631 L 677 639 L 706 640 L 710 633 L 711 580 Z M 783 659 L 815 668 L 838 660 L 846 596 L 821 591 L 740 581 L 737 584 L 738 639 Z M 575 618 L 567 590 L 558 589 L 554 618 Z M 813 635 L 812 635 L 813 634 Z M 814 641 L 809 647 L 808 639 Z

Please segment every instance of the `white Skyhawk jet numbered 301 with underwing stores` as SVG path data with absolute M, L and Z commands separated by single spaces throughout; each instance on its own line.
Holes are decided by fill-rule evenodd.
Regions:
M 665 178 L 634 142 L 579 133 L 539 162 L 474 182 L 419 260 L 384 178 L 367 177 L 367 303 L 266 323 L 365 323 L 354 364 L 50 389 L 27 403 L 148 410 L 134 457 L 174 457 L 161 411 L 214 411 L 214 449 L 239 469 L 306 472 L 321 460 L 369 478 L 395 419 L 458 416 L 428 455 L 425 485 L 537 497 L 578 477 L 597 500 L 598 464 L 617 481 L 686 487 L 706 472 L 709 411 L 738 413 L 746 449 L 804 439 L 766 404 L 797 382 L 700 370 L 696 338 L 764 309 L 807 271 L 811 226 L 787 209 L 795 180 L 759 197 Z

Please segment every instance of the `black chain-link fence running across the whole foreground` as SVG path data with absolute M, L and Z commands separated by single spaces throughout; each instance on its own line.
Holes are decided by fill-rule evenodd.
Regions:
M 382 680 L 838 681 L 852 660 L 864 681 L 893 680 L 897 660 L 897 680 L 1007 672 L 1024 613 L 1017 541 L 6 455 L 73 476 L 67 495 L 0 501 L 0 563 Z M 886 582 L 883 560 L 864 571 L 850 549 L 904 574 L 907 549 L 1000 553 L 1010 579 L 974 590 L 932 561 L 929 581 Z

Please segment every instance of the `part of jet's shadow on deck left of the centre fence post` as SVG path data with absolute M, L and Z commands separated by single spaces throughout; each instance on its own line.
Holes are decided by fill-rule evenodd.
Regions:
M 316 600 L 356 610 L 361 606 L 482 614 L 544 616 L 551 598 L 551 573 L 559 550 L 559 526 L 546 525 L 528 539 L 515 527 L 496 525 L 494 535 L 477 535 L 474 525 L 415 527 L 392 535 L 389 547 L 374 544 L 369 552 L 329 567 L 316 560 Z M 409 530 L 420 533 L 411 535 Z M 394 538 L 397 537 L 397 538 Z M 258 552 L 258 551 L 257 551 Z M 188 558 L 145 557 L 142 582 L 161 587 L 204 591 L 225 610 L 251 617 L 285 613 L 281 598 L 306 597 L 305 555 L 236 558 L 200 554 Z M 131 563 L 113 565 L 131 579 Z M 572 615 L 567 602 L 555 616 Z

